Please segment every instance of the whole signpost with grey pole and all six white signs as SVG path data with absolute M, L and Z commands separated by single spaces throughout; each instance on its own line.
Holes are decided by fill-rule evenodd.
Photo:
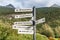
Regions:
M 22 12 L 28 14 L 20 14 L 15 15 L 15 18 L 26 18 L 32 17 L 31 21 L 23 21 L 23 22 L 14 22 L 13 29 L 18 29 L 18 34 L 33 34 L 33 40 L 36 40 L 36 24 L 45 22 L 45 18 L 39 19 L 36 21 L 36 8 L 33 9 L 15 9 L 15 12 Z M 30 13 L 31 12 L 31 13 Z M 26 26 L 32 25 L 32 26 Z

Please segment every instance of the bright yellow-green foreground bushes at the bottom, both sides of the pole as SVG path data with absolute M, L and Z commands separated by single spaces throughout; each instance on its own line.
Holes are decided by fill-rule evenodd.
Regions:
M 0 40 L 33 40 L 33 35 L 18 34 L 8 22 L 0 20 Z M 37 40 L 48 40 L 48 38 L 37 33 Z

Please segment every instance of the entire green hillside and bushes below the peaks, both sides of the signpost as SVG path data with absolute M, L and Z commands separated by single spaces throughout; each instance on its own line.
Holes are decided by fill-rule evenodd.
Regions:
M 20 35 L 17 34 L 17 30 L 12 29 L 12 25 L 15 21 L 27 21 L 30 18 L 10 19 L 10 14 L 12 15 L 21 13 L 15 13 L 14 10 L 11 8 L 0 8 L 0 10 L 1 40 L 32 40 L 32 35 Z M 60 8 L 36 8 L 36 15 L 37 20 L 43 17 L 46 18 L 45 23 L 38 24 L 36 26 L 37 40 L 48 40 L 47 37 L 60 37 Z

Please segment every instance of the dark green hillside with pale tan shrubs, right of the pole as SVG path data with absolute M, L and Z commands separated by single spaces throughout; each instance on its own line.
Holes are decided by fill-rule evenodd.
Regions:
M 60 8 L 37 8 L 37 19 L 43 17 L 46 18 L 46 22 L 37 25 L 39 33 L 42 30 L 41 34 L 46 36 L 60 37 Z M 49 35 L 47 35 L 48 33 Z

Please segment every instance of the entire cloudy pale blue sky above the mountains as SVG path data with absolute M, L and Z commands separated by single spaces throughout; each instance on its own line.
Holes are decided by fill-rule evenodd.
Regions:
M 50 7 L 53 4 L 60 5 L 60 0 L 0 0 L 0 5 L 14 5 L 16 8 Z

